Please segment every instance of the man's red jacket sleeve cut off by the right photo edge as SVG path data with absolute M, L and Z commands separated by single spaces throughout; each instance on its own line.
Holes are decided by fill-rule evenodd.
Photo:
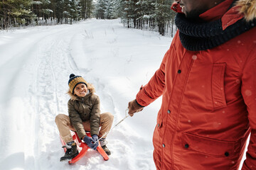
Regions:
M 242 170 L 256 169 L 256 45 L 252 47 L 247 62 L 242 70 L 242 97 L 247 106 L 251 128 L 250 143 Z

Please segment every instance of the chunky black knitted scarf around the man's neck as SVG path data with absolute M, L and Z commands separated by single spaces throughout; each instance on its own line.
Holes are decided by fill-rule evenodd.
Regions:
M 178 27 L 179 37 L 183 47 L 186 50 L 199 51 L 217 47 L 245 33 L 245 31 L 256 26 L 256 19 L 246 22 L 242 18 L 223 30 L 221 19 L 210 23 L 196 23 L 189 21 L 183 13 L 177 13 L 175 23 Z

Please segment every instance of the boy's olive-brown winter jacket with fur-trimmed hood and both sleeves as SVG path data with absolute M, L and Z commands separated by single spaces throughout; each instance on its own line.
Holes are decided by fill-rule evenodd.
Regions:
M 68 91 L 70 95 L 68 115 L 80 138 L 86 135 L 82 122 L 90 121 L 91 135 L 98 135 L 100 127 L 100 98 L 94 94 L 94 87 L 91 84 L 87 85 L 90 94 L 87 94 L 85 97 L 78 97 Z

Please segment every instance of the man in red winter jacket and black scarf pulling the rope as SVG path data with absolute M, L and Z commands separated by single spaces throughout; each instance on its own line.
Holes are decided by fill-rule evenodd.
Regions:
M 162 170 L 256 169 L 256 1 L 177 0 L 178 31 L 129 115 L 159 96 L 154 162 Z

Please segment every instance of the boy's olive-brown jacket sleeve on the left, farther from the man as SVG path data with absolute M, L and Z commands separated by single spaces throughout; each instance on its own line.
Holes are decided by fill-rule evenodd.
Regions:
M 84 137 L 86 133 L 82 125 L 82 119 L 80 117 L 80 114 L 78 113 L 78 111 L 75 111 L 74 102 L 75 101 L 71 100 L 68 101 L 68 116 L 70 118 L 72 125 L 75 128 L 75 131 L 78 133 L 78 137 L 82 139 L 82 137 Z

